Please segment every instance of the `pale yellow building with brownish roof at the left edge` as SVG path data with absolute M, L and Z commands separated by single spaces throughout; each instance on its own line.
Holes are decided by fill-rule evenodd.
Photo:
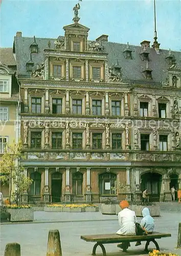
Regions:
M 15 78 L 16 61 L 12 48 L 0 48 L 0 161 L 4 154 L 6 143 L 17 142 L 20 135 L 19 86 Z M 19 125 L 18 125 L 19 124 Z M 13 188 L 14 189 L 14 188 Z M 1 183 L 4 198 L 9 196 L 9 185 Z

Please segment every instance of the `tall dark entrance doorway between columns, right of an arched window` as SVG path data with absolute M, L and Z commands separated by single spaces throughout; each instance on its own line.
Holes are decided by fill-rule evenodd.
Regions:
M 62 188 L 62 174 L 52 174 L 52 202 L 61 201 L 61 188 Z

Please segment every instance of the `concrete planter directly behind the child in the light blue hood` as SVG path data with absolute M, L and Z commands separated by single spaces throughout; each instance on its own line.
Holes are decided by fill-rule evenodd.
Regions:
M 152 217 L 159 217 L 160 216 L 160 206 L 159 205 L 155 205 L 155 206 L 152 206 L 152 205 L 146 205 L 146 206 L 143 206 L 143 205 L 130 205 L 129 208 L 133 211 L 135 211 L 135 215 L 137 217 L 143 217 L 142 216 L 142 210 L 144 207 L 147 207 L 149 208 L 150 210 L 150 215 Z

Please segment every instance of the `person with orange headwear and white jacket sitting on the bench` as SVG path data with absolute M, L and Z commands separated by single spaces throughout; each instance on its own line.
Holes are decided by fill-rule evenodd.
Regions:
M 120 224 L 120 229 L 116 232 L 117 234 L 121 234 L 122 236 L 133 236 L 135 235 L 135 222 L 137 222 L 137 217 L 135 216 L 135 212 L 130 210 L 128 201 L 120 202 L 121 211 L 118 214 L 118 221 Z M 119 248 L 129 247 L 130 243 L 125 242 L 122 244 L 118 244 Z

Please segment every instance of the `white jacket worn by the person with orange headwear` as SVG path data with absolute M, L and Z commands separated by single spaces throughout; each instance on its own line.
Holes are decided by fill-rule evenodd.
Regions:
M 135 222 L 137 222 L 137 217 L 133 210 L 128 208 L 121 210 L 118 214 L 118 221 L 121 228 L 116 232 L 117 234 L 126 236 L 135 234 Z

